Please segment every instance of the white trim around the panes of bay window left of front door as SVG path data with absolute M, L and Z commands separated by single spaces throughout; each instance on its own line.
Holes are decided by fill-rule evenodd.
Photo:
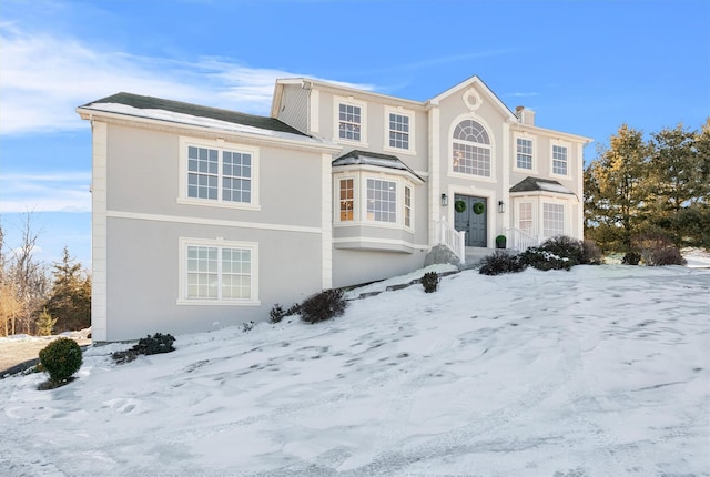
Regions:
M 353 179 L 353 187 L 354 187 L 354 203 L 353 203 L 353 220 L 352 221 L 341 221 L 341 195 L 339 195 L 339 185 L 342 180 Z M 397 184 L 397 203 L 396 203 L 396 217 L 395 222 L 379 222 L 379 221 L 368 221 L 367 220 L 367 180 L 373 179 L 376 181 L 389 181 Z M 337 173 L 334 174 L 334 190 L 337 189 L 337 194 L 333 194 L 334 196 L 334 226 L 344 227 L 344 226 L 368 226 L 368 227 L 381 227 L 381 229 L 398 229 L 405 230 L 408 232 L 414 232 L 415 230 L 415 215 L 416 215 L 416 187 L 415 183 L 402 175 L 387 174 L 387 173 L 373 173 L 371 171 L 351 171 L 347 173 Z M 409 215 L 409 226 L 404 224 L 404 187 L 408 187 L 412 193 L 412 206 L 410 215 Z

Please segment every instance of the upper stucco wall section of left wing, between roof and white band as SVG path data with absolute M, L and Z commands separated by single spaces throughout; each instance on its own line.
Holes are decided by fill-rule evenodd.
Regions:
M 255 151 L 257 210 L 223 207 L 216 201 L 181 203 L 181 182 L 186 182 L 183 143 Z M 273 145 L 201 140 L 175 133 L 110 125 L 108 140 L 108 209 L 160 215 L 199 215 L 231 220 L 321 227 L 322 158 L 320 153 Z M 182 154 L 182 159 L 181 159 Z M 182 174 L 181 174 L 182 172 Z M 229 205 L 229 204 L 227 204 Z

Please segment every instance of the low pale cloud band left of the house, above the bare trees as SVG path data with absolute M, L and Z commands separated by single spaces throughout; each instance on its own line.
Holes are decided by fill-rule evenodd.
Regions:
M 91 174 L 7 174 L 0 177 L 0 213 L 91 212 Z

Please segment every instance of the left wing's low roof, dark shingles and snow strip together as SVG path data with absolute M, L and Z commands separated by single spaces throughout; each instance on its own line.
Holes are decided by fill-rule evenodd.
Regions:
M 87 103 L 80 109 L 290 140 L 316 141 L 275 118 L 245 114 L 132 93 L 113 94 Z

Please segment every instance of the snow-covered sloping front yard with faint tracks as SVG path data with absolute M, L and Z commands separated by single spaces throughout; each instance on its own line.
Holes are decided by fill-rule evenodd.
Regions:
M 466 271 L 175 345 L 0 380 L 0 475 L 710 476 L 710 270 Z

